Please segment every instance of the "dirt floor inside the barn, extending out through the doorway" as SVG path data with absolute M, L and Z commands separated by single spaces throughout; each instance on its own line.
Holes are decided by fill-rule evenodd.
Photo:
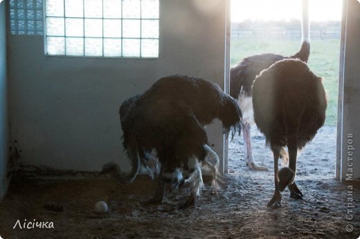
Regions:
M 2 238 L 358 238 L 360 190 L 334 180 L 336 128 L 321 128 L 298 157 L 296 181 L 304 200 L 282 193 L 282 207 L 269 209 L 273 195 L 273 159 L 255 129 L 255 161 L 269 171 L 249 171 L 243 160 L 242 137 L 229 145 L 229 173 L 217 194 L 210 182 L 195 207 L 177 209 L 188 188 L 167 193 L 162 204 L 143 206 L 156 183 L 145 176 L 122 185 L 110 178 L 36 180 L 15 178 L 0 203 Z M 332 142 L 329 139 L 333 139 Z M 354 210 L 348 211 L 352 198 Z M 109 212 L 96 214 L 99 200 Z M 351 205 L 350 205 L 351 206 Z M 350 208 L 352 209 L 352 208 Z M 345 216 L 352 216 L 346 220 Z M 54 229 L 13 229 L 17 220 L 53 222 Z M 347 232 L 346 228 L 352 232 Z

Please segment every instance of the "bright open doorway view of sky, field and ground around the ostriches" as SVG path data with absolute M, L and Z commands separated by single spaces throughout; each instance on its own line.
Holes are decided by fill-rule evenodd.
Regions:
M 323 6 L 326 6 L 326 10 Z M 309 1 L 310 55 L 307 64 L 319 77 L 327 93 L 326 120 L 316 137 L 298 155 L 297 175 L 304 180 L 334 178 L 336 169 L 336 123 L 339 93 L 339 59 L 342 1 Z M 231 0 L 230 67 L 244 57 L 275 53 L 294 55 L 301 45 L 301 1 Z M 251 126 L 255 162 L 271 173 L 249 173 L 251 177 L 273 177 L 273 155 L 265 137 Z M 242 135 L 228 142 L 228 172 L 249 172 L 244 159 Z M 272 184 L 271 184 L 272 185 Z

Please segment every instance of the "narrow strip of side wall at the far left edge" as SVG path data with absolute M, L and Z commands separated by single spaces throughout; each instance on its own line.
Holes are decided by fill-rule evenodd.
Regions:
M 8 180 L 8 103 L 6 100 L 6 10 L 5 1 L 0 1 L 0 200 L 6 193 Z

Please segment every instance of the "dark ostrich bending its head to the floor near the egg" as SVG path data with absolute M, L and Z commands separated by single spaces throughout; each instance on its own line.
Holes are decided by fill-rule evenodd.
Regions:
M 187 207 L 195 202 L 202 186 L 201 167 L 207 166 L 216 180 L 218 157 L 208 146 L 204 126 L 215 118 L 222 121 L 224 133 L 239 131 L 241 111 L 235 99 L 226 95 L 217 84 L 205 79 L 172 75 L 159 79 L 142 95 L 127 99 L 120 106 L 123 146 L 132 162 L 132 171 L 124 176 L 114 164 L 105 164 L 102 173 L 111 173 L 125 182 L 132 182 L 141 164 L 156 152 L 161 167 L 159 184 L 147 203 L 161 202 L 165 184 L 177 189 L 191 184 Z M 215 157 L 215 166 L 206 160 Z M 214 183 L 214 180 L 213 180 Z

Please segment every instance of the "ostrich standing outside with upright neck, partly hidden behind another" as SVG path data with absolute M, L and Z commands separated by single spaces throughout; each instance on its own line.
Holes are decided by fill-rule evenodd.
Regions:
M 267 170 L 265 166 L 260 166 L 254 162 L 251 148 L 250 129 L 253 121 L 253 102 L 251 97 L 253 92 L 251 86 L 253 81 L 259 73 L 269 68 L 276 61 L 282 59 L 301 59 L 307 62 L 310 54 L 309 44 L 309 17 L 307 0 L 303 0 L 303 17 L 302 17 L 302 42 L 300 50 L 290 57 L 275 54 L 262 54 L 246 57 L 240 61 L 237 66 L 231 68 L 230 71 L 230 95 L 237 99 L 240 109 L 242 111 L 242 133 L 244 137 L 244 157 L 249 169 L 252 170 Z M 284 162 L 287 161 L 288 155 L 284 149 L 280 150 L 280 155 Z

